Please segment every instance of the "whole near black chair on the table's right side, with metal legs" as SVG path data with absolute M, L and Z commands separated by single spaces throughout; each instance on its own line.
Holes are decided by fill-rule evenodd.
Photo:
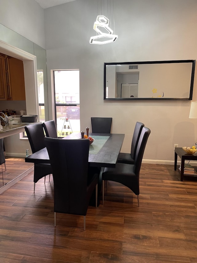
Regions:
M 104 168 L 102 173 L 103 180 L 103 204 L 104 204 L 104 180 L 115 181 L 127 186 L 137 195 L 139 206 L 139 172 L 142 164 L 144 150 L 151 130 L 147 127 L 142 128 L 135 155 L 135 163 L 117 163 L 115 168 Z

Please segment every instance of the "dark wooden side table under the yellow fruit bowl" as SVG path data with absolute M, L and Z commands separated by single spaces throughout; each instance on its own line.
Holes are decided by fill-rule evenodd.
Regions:
M 179 171 L 179 166 L 177 166 L 177 156 L 181 158 L 181 171 Z M 185 176 L 184 175 L 184 165 L 185 165 L 185 160 L 193 160 L 197 161 L 197 154 L 187 154 L 182 148 L 175 147 L 175 171 L 176 169 L 180 172 L 181 174 L 181 181 L 183 181 L 183 177 L 187 177 L 187 179 L 194 178 L 194 176 Z M 197 179 L 197 177 L 195 177 Z

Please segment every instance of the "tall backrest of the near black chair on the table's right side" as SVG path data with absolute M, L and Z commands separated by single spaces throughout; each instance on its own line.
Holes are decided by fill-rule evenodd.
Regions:
M 136 155 L 135 155 L 135 175 L 137 175 L 138 177 L 139 177 L 139 171 L 140 171 L 141 164 L 142 164 L 144 150 L 145 150 L 147 140 L 148 140 L 150 133 L 151 133 L 151 130 L 149 128 L 143 127 L 142 132 L 139 137 L 138 146 L 137 146 Z

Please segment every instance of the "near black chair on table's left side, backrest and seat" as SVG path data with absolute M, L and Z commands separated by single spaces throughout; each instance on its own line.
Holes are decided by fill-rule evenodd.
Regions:
M 29 139 L 32 153 L 35 153 L 46 147 L 44 143 L 45 135 L 41 122 L 26 126 L 25 131 Z M 51 173 L 52 170 L 50 164 L 34 163 L 34 193 L 35 193 L 35 183 L 37 183 L 38 180 L 41 179 L 42 177 L 44 177 L 44 183 L 45 183 L 46 175 L 49 175 L 49 181 L 50 181 Z

